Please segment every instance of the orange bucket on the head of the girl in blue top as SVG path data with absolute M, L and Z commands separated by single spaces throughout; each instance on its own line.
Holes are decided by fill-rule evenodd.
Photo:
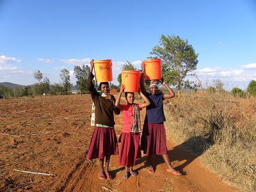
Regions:
M 144 60 L 146 80 L 156 80 L 162 78 L 161 59 Z

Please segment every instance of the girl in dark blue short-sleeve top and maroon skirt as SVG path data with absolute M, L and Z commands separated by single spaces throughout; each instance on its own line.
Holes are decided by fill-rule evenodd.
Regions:
M 141 92 L 150 101 L 150 106 L 146 109 L 145 122 L 143 125 L 143 132 L 141 136 L 141 150 L 147 155 L 148 159 L 148 172 L 154 173 L 154 166 L 152 165 L 152 155 L 157 154 L 163 156 L 164 162 L 167 166 L 167 171 L 174 175 L 181 175 L 181 173 L 173 169 L 170 159 L 168 157 L 167 145 L 166 145 L 166 133 L 164 122 L 166 121 L 163 109 L 163 100 L 170 99 L 175 96 L 173 90 L 164 82 L 163 77 L 161 83 L 168 90 L 168 93 L 157 93 L 157 83 L 151 83 L 149 86 L 148 93 L 144 86 L 144 74 L 145 74 L 145 63 L 141 63 L 141 79 L 140 87 Z

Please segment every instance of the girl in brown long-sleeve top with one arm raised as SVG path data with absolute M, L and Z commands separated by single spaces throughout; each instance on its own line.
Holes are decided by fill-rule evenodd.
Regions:
M 111 155 L 118 155 L 118 142 L 114 129 L 114 114 L 120 114 L 120 110 L 115 106 L 115 97 L 109 94 L 109 83 L 100 83 L 102 94 L 97 92 L 92 80 L 94 63 L 91 61 L 90 74 L 87 79 L 87 87 L 95 105 L 95 125 L 88 149 L 87 159 L 100 159 L 99 179 L 108 180 L 112 176 L 108 172 L 109 160 Z M 104 158 L 106 157 L 106 166 L 104 172 Z

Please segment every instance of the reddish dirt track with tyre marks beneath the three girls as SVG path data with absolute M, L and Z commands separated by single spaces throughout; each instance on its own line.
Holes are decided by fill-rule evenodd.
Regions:
M 141 113 L 143 119 L 145 110 Z M 121 124 L 122 115 L 115 116 L 115 121 L 116 124 Z M 118 156 L 111 156 L 110 173 L 113 180 L 98 179 L 97 159 L 90 163 L 82 160 L 70 173 L 65 186 L 58 191 L 237 191 L 223 184 L 219 177 L 204 168 L 200 164 L 200 157 L 188 154 L 172 141 L 168 141 L 168 154 L 173 167 L 182 175 L 166 172 L 166 165 L 161 156 L 154 156 L 156 172 L 148 173 L 147 157 L 143 155 L 134 166 L 138 176 L 130 175 L 129 179 L 124 180 L 124 167 L 118 165 Z

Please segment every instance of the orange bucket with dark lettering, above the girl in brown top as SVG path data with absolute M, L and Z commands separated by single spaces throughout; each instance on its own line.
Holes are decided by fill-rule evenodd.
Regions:
M 93 63 L 97 82 L 108 82 L 113 80 L 111 60 L 94 60 Z

